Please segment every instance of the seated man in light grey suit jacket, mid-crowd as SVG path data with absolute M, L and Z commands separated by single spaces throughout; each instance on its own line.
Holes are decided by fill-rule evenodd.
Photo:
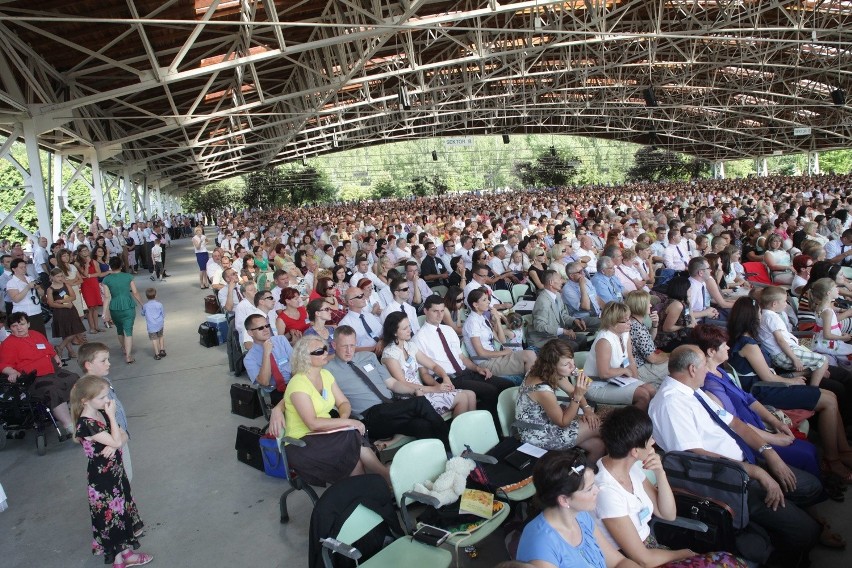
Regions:
M 562 299 L 563 283 L 562 277 L 556 271 L 544 271 L 544 289 L 535 300 L 533 324 L 527 332 L 527 341 L 534 347 L 544 347 L 544 344 L 554 337 L 568 340 L 575 351 L 582 343 L 582 338 L 578 339 L 573 330 L 586 331 L 586 323 L 582 319 L 571 317 Z

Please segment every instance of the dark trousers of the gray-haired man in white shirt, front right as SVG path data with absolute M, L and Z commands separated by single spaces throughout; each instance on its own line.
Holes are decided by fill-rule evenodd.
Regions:
M 797 483 L 795 490 L 784 495 L 785 507 L 775 511 L 767 507 L 766 491 L 752 480 L 748 484 L 748 510 L 751 522 L 769 533 L 776 555 L 784 559 L 784 565 L 796 566 L 819 541 L 821 527 L 803 509 L 821 500 L 822 484 L 809 473 L 790 469 L 796 474 Z

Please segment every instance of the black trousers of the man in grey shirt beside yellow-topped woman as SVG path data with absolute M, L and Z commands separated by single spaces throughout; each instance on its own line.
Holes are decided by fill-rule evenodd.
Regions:
M 450 427 L 423 396 L 371 406 L 364 411 L 363 422 L 371 440 L 404 434 L 418 440 L 437 438 L 444 447 L 450 445 Z

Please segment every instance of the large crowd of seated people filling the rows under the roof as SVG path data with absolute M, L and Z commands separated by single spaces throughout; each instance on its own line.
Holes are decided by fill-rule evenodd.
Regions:
M 296 344 L 313 336 L 311 365 L 325 358 L 323 370 L 363 416 L 365 438 L 379 448 L 400 435 L 446 444 L 442 414 L 479 408 L 496 421 L 499 393 L 522 380 L 519 417 L 541 422 L 543 429 L 522 431 L 521 437 L 551 448 L 583 448 L 593 458 L 584 467 L 592 467 L 619 442 L 607 441 L 606 417 L 598 418 L 595 406 L 647 411 L 659 448 L 743 461 L 759 486 L 755 494 L 763 495 L 762 508 L 754 504 L 754 522 L 767 527 L 778 550 L 795 553 L 786 560 L 800 562 L 817 542 L 838 544 L 813 510 L 823 495 L 821 478 L 852 482 L 844 426 L 852 418 L 852 312 L 842 304 L 852 297 L 845 275 L 852 273 L 850 190 L 848 176 L 778 177 L 225 212 L 217 219 L 220 248 L 211 260 L 221 262 L 241 247 L 240 281 L 259 284 L 258 276 L 267 275 L 256 293 L 264 301 L 269 291 L 278 318 L 243 312 L 259 324 L 251 339 L 267 341 L 279 332 Z M 768 281 L 760 281 L 762 273 Z M 227 275 L 218 280 L 227 283 Z M 505 321 L 514 302 L 497 292 L 518 283 L 528 285 L 534 307 L 522 334 L 525 348 L 514 350 L 507 347 L 513 334 Z M 273 320 L 284 322 L 284 329 L 264 323 Z M 248 319 L 237 325 L 250 329 Z M 710 345 L 708 327 L 724 339 Z M 800 341 L 794 333 L 799 330 L 816 336 Z M 582 369 L 573 364 L 579 352 L 587 352 Z M 267 357 L 262 359 L 266 365 Z M 279 371 L 286 384 L 289 369 Z M 271 373 L 249 374 L 265 389 L 277 385 Z M 715 390 L 694 394 L 711 375 Z M 318 390 L 323 373 L 315 379 Z M 790 386 L 750 388 L 759 380 Z M 793 390 L 785 388 L 806 394 L 788 396 Z M 560 406 L 557 389 L 571 396 L 568 405 Z M 695 404 L 670 412 L 673 401 L 687 394 Z M 758 465 L 696 397 L 711 408 L 730 407 L 728 414 L 742 425 L 728 430 L 754 446 L 762 458 Z M 336 393 L 333 398 L 338 400 Z M 294 413 L 285 396 L 274 421 L 285 427 L 285 417 L 292 416 L 310 430 L 322 423 L 319 402 L 310 416 L 307 402 Z M 762 403 L 815 412 L 813 430 L 825 459 L 817 460 L 807 443 L 794 443 L 789 428 Z M 688 420 L 696 428 L 692 434 L 706 436 L 683 437 L 678 421 Z M 618 446 L 618 455 L 604 462 L 609 483 L 613 471 L 626 473 L 637 460 L 659 469 L 644 450 L 651 437 L 639 438 L 621 440 L 630 447 Z M 360 444 L 352 445 L 353 456 L 360 455 Z M 372 463 L 352 463 L 353 473 L 375 470 Z M 582 490 L 582 477 L 579 489 L 570 491 Z M 658 500 L 655 513 L 669 516 L 670 498 L 658 483 L 656 495 L 645 493 Z M 551 506 L 570 499 L 556 495 Z M 606 510 L 620 509 L 610 503 Z M 552 518 L 567 523 L 574 517 L 557 516 L 554 509 Z M 784 527 L 791 517 L 802 526 L 792 536 Z M 601 525 L 606 530 L 600 535 L 590 534 L 646 565 L 649 557 L 686 557 L 688 551 L 643 552 L 637 543 L 646 529 L 633 525 L 638 534 L 618 519 Z M 600 546 L 607 565 L 621 562 Z

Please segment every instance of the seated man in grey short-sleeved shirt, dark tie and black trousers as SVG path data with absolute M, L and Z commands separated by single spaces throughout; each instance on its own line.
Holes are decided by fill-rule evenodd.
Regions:
M 437 438 L 449 446 L 449 427 L 423 396 L 423 386 L 394 379 L 375 353 L 356 347 L 355 330 L 340 325 L 334 332 L 334 358 L 325 368 L 360 414 L 371 440 L 398 434 Z M 396 400 L 394 395 L 408 396 Z M 382 444 L 379 444 L 381 447 Z

